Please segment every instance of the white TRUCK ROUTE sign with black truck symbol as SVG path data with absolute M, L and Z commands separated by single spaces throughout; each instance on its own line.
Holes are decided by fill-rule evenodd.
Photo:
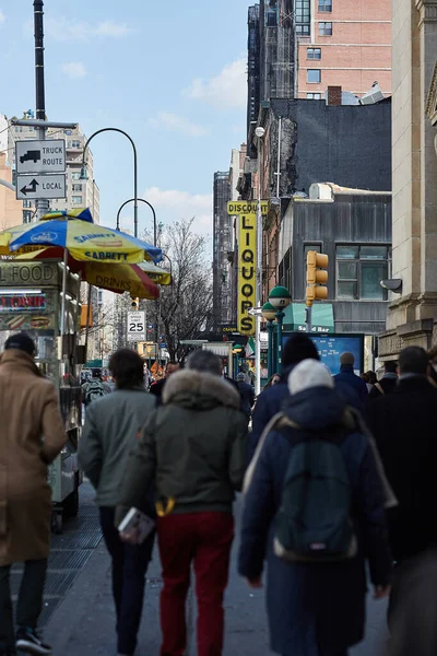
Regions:
M 16 141 L 15 167 L 19 174 L 64 173 L 66 142 L 63 139 Z

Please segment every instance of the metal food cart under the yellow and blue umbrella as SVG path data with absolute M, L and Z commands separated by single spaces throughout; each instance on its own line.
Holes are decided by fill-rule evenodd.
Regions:
M 58 261 L 0 261 L 0 350 L 8 337 L 26 331 L 35 341 L 36 364 L 59 389 L 68 442 L 49 468 L 54 530 L 62 530 L 62 515 L 79 511 L 78 446 L 82 425 L 80 365 L 80 278 L 67 272 L 64 335 L 60 337 L 62 265 Z

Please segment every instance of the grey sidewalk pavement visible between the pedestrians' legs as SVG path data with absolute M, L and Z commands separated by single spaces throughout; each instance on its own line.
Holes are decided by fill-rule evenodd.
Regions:
M 267 619 L 263 590 L 250 590 L 236 573 L 237 544 L 233 549 L 229 586 L 226 594 L 226 642 L 224 656 L 267 656 Z M 147 572 L 139 655 L 157 656 L 161 645 L 161 564 L 155 549 Z M 196 654 L 196 608 L 188 600 L 189 655 Z M 110 561 L 104 542 L 93 555 L 55 610 L 45 628 L 45 639 L 55 655 L 115 656 L 115 611 L 110 589 Z

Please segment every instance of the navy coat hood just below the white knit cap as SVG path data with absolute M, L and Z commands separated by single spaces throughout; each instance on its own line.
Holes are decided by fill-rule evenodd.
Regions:
M 328 387 L 312 387 L 290 397 L 284 412 L 306 431 L 321 431 L 345 423 L 346 403 Z

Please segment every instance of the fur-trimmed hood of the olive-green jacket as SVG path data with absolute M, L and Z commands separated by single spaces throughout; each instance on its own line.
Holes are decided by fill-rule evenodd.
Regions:
M 184 370 L 168 378 L 164 387 L 163 403 L 197 410 L 209 410 L 217 406 L 239 410 L 240 397 L 231 383 L 218 376 Z

